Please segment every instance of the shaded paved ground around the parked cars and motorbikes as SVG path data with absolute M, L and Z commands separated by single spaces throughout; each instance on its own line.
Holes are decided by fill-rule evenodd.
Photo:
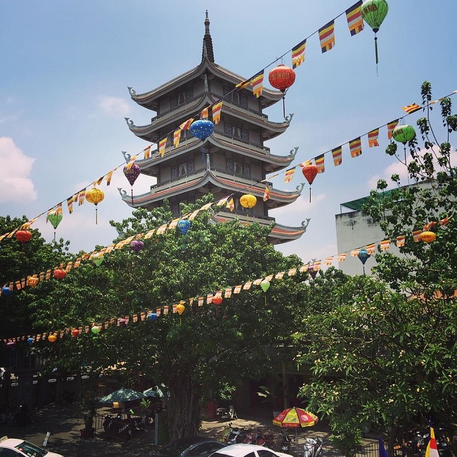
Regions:
M 227 423 L 218 423 L 216 420 L 202 421 L 200 435 L 206 435 L 221 439 L 222 431 Z M 232 421 L 233 427 L 253 428 L 270 430 L 279 436 L 281 429 L 272 425 L 270 419 L 266 418 L 240 418 Z M 46 432 L 51 432 L 49 439 L 50 450 L 62 454 L 64 457 L 91 457 L 109 456 L 125 457 L 128 456 L 148 456 L 151 451 L 156 449 L 153 446 L 153 428 L 147 428 L 145 432 L 136 432 L 134 437 L 126 443 L 117 442 L 113 439 L 104 439 L 102 436 L 94 438 L 82 438 L 80 430 L 83 428 L 82 416 L 79 410 L 72 406 L 56 407 L 46 406 L 39 411 L 34 411 L 34 423 L 26 427 L 8 427 L 0 425 L 0 436 L 7 435 L 12 438 L 27 439 L 34 444 L 42 446 Z M 283 429 L 284 430 L 284 429 Z M 290 430 L 293 435 L 294 429 Z M 328 443 L 328 429 L 318 424 L 300 430 L 298 443 L 300 456 L 302 456 L 302 442 L 304 437 L 320 437 L 324 443 Z M 328 449 L 328 446 L 326 446 Z M 296 452 L 293 452 L 296 454 Z

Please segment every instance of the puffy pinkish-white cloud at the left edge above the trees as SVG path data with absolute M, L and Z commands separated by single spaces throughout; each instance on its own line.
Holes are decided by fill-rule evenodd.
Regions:
M 29 178 L 34 161 L 15 146 L 13 139 L 0 136 L 1 203 L 37 200 L 37 191 Z

